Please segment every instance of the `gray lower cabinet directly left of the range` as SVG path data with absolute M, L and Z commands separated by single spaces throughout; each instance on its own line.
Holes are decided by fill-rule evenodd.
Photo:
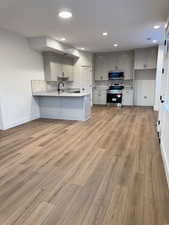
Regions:
M 107 92 L 105 90 L 93 91 L 93 104 L 94 105 L 106 105 L 107 104 Z

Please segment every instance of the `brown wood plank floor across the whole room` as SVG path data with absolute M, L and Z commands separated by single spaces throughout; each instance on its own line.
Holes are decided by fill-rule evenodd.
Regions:
M 0 132 L 0 225 L 167 225 L 151 108 L 93 108 L 87 122 Z

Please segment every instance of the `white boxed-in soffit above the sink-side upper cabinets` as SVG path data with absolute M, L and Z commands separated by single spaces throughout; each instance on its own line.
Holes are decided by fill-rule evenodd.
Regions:
M 66 55 L 73 58 L 79 58 L 79 52 L 75 48 L 71 48 L 59 41 L 48 37 L 35 37 L 28 39 L 30 46 L 39 52 L 55 52 L 61 55 Z

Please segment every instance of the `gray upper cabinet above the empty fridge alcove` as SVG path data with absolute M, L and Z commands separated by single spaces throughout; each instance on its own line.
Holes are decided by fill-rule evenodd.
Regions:
M 134 69 L 156 69 L 157 48 L 144 48 L 135 50 Z

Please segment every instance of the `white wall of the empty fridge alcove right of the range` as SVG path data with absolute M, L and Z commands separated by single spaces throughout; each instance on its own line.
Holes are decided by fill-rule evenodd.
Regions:
M 135 71 L 134 105 L 153 106 L 155 94 L 155 70 Z

